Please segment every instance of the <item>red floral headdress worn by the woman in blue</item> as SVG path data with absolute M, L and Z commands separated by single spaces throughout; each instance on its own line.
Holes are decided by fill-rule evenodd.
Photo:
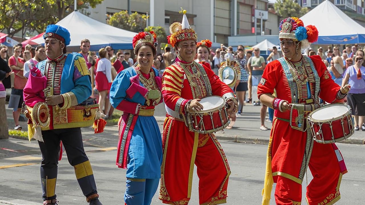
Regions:
M 151 46 L 152 50 L 154 51 L 154 54 L 156 54 L 157 36 L 156 36 L 155 32 L 153 32 L 153 31 L 139 32 L 137 35 L 135 35 L 133 37 L 132 45 L 133 45 L 133 52 L 136 57 L 137 57 L 138 49 L 145 45 Z

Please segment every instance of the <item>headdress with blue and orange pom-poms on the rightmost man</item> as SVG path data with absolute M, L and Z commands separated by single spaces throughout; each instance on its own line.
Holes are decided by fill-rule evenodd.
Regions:
M 279 38 L 314 43 L 318 40 L 318 30 L 313 25 L 304 27 L 303 21 L 297 17 L 286 18 L 279 24 Z

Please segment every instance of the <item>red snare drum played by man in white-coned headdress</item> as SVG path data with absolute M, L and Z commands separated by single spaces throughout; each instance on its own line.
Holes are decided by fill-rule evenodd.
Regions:
M 189 131 L 208 134 L 220 131 L 230 123 L 226 102 L 219 96 L 208 96 L 201 99 L 201 111 L 188 113 Z

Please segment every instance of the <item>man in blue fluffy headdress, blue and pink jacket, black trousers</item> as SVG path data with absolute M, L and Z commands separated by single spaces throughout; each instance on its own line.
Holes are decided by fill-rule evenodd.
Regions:
M 101 205 L 93 171 L 82 144 L 81 127 L 94 123 L 95 133 L 105 125 L 99 105 L 91 96 L 91 78 L 81 54 L 66 54 L 70 33 L 50 24 L 43 35 L 47 59 L 30 66 L 24 88 L 29 138 L 38 140 L 42 152 L 41 182 L 43 204 L 57 205 L 55 187 L 60 142 L 90 205 Z M 62 146 L 61 146 L 62 147 Z

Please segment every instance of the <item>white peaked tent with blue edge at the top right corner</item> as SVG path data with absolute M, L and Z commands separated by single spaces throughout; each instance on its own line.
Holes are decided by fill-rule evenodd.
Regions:
M 300 18 L 304 26 L 314 25 L 319 32 L 315 44 L 365 43 L 365 28 L 328 0 Z

